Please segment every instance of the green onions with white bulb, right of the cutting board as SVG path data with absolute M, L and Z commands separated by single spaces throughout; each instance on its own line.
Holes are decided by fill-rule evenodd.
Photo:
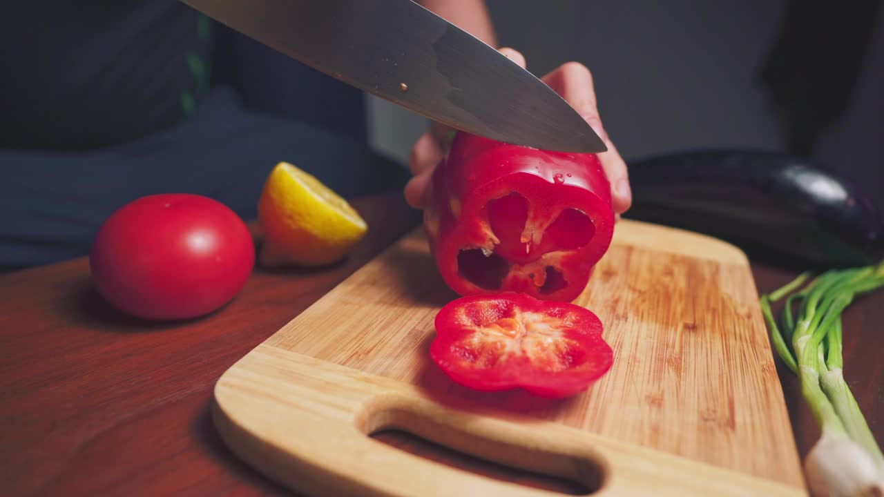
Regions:
M 808 483 L 815 495 L 881 495 L 884 455 L 844 381 L 842 313 L 857 296 L 884 287 L 884 261 L 825 271 L 799 290 L 808 276 L 759 300 L 773 349 L 796 373 L 819 425 L 819 440 L 804 460 Z M 783 298 L 778 322 L 771 304 Z

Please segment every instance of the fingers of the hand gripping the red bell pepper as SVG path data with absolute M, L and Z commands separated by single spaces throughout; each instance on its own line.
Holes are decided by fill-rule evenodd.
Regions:
M 500 49 L 500 53 L 509 57 L 516 64 L 525 67 L 525 57 L 522 57 L 521 53 L 512 49 Z M 583 116 L 583 119 L 586 119 L 596 134 L 605 141 L 607 151 L 598 154 L 598 160 L 601 161 L 606 176 L 611 182 L 612 207 L 614 213 L 619 216 L 628 210 L 632 203 L 629 174 L 626 163 L 623 162 L 620 152 L 617 151 L 605 133 L 601 118 L 598 116 L 596 92 L 592 85 L 590 70 L 578 62 L 568 62 L 546 74 L 541 80 L 570 103 L 575 111 Z M 425 206 L 430 177 L 436 165 L 445 155 L 450 131 L 451 128 L 448 126 L 433 123 L 430 131 L 415 141 L 415 145 L 411 149 L 408 167 L 415 177 L 409 180 L 405 187 L 405 198 L 408 204 L 415 209 L 423 209 Z

